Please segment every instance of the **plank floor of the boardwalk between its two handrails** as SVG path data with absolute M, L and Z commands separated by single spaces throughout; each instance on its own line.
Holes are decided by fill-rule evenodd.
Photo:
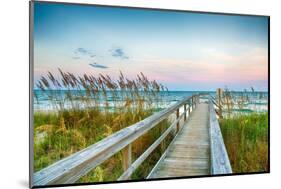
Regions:
M 148 178 L 209 175 L 208 119 L 208 104 L 198 104 Z

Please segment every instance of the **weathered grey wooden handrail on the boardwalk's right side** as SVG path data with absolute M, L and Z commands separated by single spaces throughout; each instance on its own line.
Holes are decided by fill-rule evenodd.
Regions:
M 211 97 L 209 100 L 209 112 L 211 174 L 230 174 L 232 173 L 232 169 Z

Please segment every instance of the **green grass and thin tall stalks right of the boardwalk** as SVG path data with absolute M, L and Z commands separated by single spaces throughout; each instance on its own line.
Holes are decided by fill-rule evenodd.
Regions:
M 227 114 L 219 121 L 235 173 L 268 171 L 268 113 L 244 111 L 254 92 L 252 87 L 249 92 L 239 93 L 225 89 L 223 94 L 223 107 Z M 261 93 L 256 95 L 262 98 Z M 234 102 L 238 108 L 236 113 L 233 113 Z

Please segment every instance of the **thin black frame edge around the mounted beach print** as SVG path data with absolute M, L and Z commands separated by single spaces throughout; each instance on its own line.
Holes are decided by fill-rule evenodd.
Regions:
M 161 12 L 183 12 L 183 13 L 202 13 L 215 15 L 232 15 L 232 16 L 253 16 L 266 17 L 268 19 L 268 171 L 265 172 L 249 172 L 249 173 L 232 173 L 219 175 L 204 175 L 204 176 L 182 176 L 169 178 L 155 178 L 143 180 L 125 180 L 125 181 L 109 181 L 109 182 L 89 182 L 89 183 L 73 183 L 73 184 L 54 184 L 44 186 L 33 186 L 33 82 L 34 82 L 34 3 L 40 2 L 45 4 L 62 4 L 62 5 L 80 5 L 92 7 L 109 7 L 109 8 L 123 8 L 132 10 L 154 10 Z M 190 178 L 206 178 L 206 177 L 223 177 L 223 176 L 238 176 L 238 175 L 253 175 L 270 173 L 270 16 L 268 15 L 254 15 L 254 14 L 236 14 L 225 12 L 207 12 L 207 11 L 192 11 L 192 10 L 177 10 L 177 9 L 162 9 L 162 8 L 147 8 L 147 7 L 131 7 L 131 6 L 117 6 L 117 5 L 102 5 L 102 4 L 87 4 L 87 3 L 70 3 L 70 2 L 56 2 L 56 1 L 29 1 L 29 187 L 30 188 L 51 188 L 51 187 L 67 187 L 67 186 L 83 186 L 83 185 L 100 185 L 112 183 L 129 183 L 129 182 L 147 182 L 147 181 L 161 181 L 174 179 L 190 179 Z

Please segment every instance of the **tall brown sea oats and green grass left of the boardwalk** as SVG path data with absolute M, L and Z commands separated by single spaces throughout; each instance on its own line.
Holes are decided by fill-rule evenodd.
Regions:
M 120 72 L 114 80 L 102 74 L 75 76 L 61 69 L 58 77 L 51 72 L 41 76 L 36 86 L 37 91 L 51 102 L 52 111 L 34 113 L 35 171 L 152 115 L 161 106 L 161 91 L 167 91 L 143 73 L 129 79 Z M 133 159 L 144 152 L 168 125 L 169 121 L 164 120 L 137 139 L 132 146 Z M 170 138 L 144 162 L 133 179 L 145 178 Z M 96 167 L 79 182 L 116 180 L 122 173 L 121 153 Z

